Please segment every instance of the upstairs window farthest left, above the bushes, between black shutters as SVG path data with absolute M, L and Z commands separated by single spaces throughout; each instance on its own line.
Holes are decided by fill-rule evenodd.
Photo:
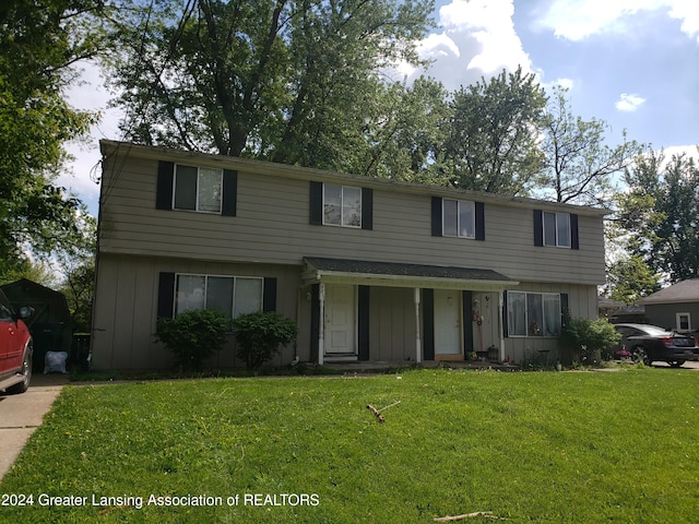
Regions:
M 203 167 L 177 166 L 173 209 L 221 213 L 223 171 Z

